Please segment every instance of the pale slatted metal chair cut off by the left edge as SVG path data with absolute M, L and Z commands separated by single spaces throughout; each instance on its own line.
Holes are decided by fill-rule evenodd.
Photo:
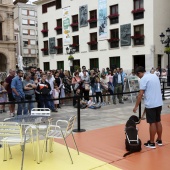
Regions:
M 16 122 L 0 122 L 0 137 L 1 137 L 0 142 L 2 143 L 4 149 L 4 161 L 7 160 L 7 148 L 9 149 L 10 159 L 12 159 L 10 145 L 20 144 L 22 148 L 24 143 L 22 126 Z M 30 130 L 30 135 L 26 136 L 25 138 L 26 142 L 29 140 L 31 140 L 31 142 L 34 143 L 32 130 Z

